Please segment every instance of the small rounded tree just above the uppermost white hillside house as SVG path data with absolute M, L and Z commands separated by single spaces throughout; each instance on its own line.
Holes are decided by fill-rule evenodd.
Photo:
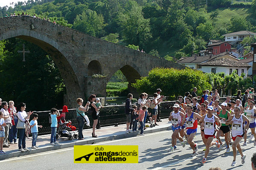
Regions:
M 230 32 L 245 31 L 247 30 L 249 23 L 244 17 L 233 17 L 230 20 L 228 30 Z

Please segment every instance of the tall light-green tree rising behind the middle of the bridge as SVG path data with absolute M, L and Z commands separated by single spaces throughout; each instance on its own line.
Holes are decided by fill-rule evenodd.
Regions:
M 120 13 L 117 24 L 122 29 L 122 37 L 129 44 L 145 45 L 151 38 L 150 19 L 143 17 L 142 7 L 135 1 L 129 1 L 129 11 Z

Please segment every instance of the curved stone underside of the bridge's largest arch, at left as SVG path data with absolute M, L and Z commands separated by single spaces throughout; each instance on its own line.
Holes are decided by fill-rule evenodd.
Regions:
M 34 33 L 27 29 L 10 30 L 0 34 L 0 40 L 6 40 L 13 37 L 20 38 L 38 45 L 52 57 L 61 73 L 61 77 L 64 79 L 64 84 L 67 91 L 66 100 L 68 100 L 66 103 L 69 103 L 69 108 L 73 107 L 73 105 L 76 105 L 75 100 L 70 100 L 72 97 L 82 95 L 80 93 L 79 81 L 75 74 L 76 68 L 74 68 L 75 65 L 72 64 L 72 60 L 68 60 L 62 54 L 60 45 L 43 34 Z

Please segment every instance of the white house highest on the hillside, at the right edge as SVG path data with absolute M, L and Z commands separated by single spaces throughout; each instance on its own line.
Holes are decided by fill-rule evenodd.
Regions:
M 225 41 L 230 42 L 231 44 L 236 44 L 237 42 L 241 42 L 244 37 L 256 36 L 256 33 L 250 31 L 238 31 L 222 36 L 225 36 Z

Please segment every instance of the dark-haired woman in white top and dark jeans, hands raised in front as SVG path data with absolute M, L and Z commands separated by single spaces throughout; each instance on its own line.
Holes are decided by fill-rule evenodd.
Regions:
M 29 150 L 28 148 L 26 148 L 26 129 L 25 129 L 26 125 L 24 124 L 29 123 L 29 117 L 33 113 L 29 111 L 29 113 L 27 114 L 25 109 L 26 109 L 25 103 L 20 103 L 20 105 L 17 106 L 18 119 L 19 119 L 17 123 L 17 128 L 19 129 L 19 133 L 20 133 L 18 147 L 19 147 L 19 151 L 21 152 L 25 152 Z M 20 127 L 18 127 L 18 125 L 20 125 Z M 22 127 L 21 125 L 24 125 L 24 126 Z

